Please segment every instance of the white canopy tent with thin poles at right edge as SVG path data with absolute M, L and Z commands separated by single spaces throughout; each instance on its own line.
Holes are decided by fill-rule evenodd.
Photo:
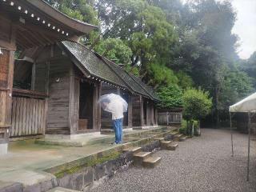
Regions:
M 232 134 L 232 115 L 231 113 L 247 113 L 248 114 L 248 159 L 247 159 L 247 181 L 249 181 L 249 166 L 250 166 L 250 118 L 256 113 L 256 93 L 251 94 L 242 101 L 230 106 L 230 133 L 231 133 L 231 146 L 232 157 L 234 156 L 233 150 L 233 134 Z

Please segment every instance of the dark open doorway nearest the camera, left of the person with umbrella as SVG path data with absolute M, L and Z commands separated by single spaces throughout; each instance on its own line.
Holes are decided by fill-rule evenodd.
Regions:
M 78 130 L 93 129 L 93 102 L 94 86 L 88 82 L 80 82 Z

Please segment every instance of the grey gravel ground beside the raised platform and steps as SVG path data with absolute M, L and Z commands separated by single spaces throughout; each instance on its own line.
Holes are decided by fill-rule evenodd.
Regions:
M 203 129 L 201 137 L 179 142 L 177 150 L 154 154 L 162 158 L 156 168 L 131 167 L 92 192 L 255 192 L 256 142 L 251 142 L 250 182 L 246 182 L 246 139 L 245 134 L 234 134 L 234 158 L 231 158 L 228 130 Z

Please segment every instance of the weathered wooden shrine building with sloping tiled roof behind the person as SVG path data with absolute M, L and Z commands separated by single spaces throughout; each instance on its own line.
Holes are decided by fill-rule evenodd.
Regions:
M 40 101 L 44 101 L 42 109 L 46 107 L 45 116 L 42 113 L 38 116 L 38 128 L 30 127 L 35 130 L 34 134 L 72 135 L 110 129 L 111 116 L 98 105 L 98 98 L 110 93 L 120 94 L 129 104 L 124 126 L 157 125 L 154 102 L 158 98 L 154 92 L 139 78 L 77 42 L 60 42 L 34 51 L 29 49 L 22 53 L 22 58 L 30 58 L 34 63 L 24 59 L 15 62 L 14 69 L 17 68 L 17 74 L 23 77 L 17 84 L 33 85 L 30 87 L 40 93 Z M 34 70 L 31 65 L 34 65 Z M 14 70 L 14 82 L 15 78 L 21 79 L 15 74 Z M 27 108 L 21 110 L 20 106 L 26 105 L 23 102 L 27 102 L 27 98 L 20 99 L 14 100 L 12 116 L 18 118 L 18 122 L 24 122 L 26 117 L 21 113 L 26 114 L 22 110 Z M 18 109 L 14 110 L 17 107 L 18 115 Z M 42 117 L 42 122 L 39 122 L 39 117 Z M 23 136 L 22 131 L 17 130 L 23 130 L 21 125 L 25 124 L 17 124 L 16 120 L 12 122 L 10 137 Z

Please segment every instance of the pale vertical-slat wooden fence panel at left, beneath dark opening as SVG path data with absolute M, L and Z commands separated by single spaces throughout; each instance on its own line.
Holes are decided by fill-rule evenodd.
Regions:
M 10 137 L 44 134 L 46 101 L 13 97 Z

